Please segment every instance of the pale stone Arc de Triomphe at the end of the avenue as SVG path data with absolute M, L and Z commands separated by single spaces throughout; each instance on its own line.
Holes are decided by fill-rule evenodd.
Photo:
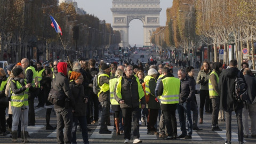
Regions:
M 159 14 L 161 12 L 159 0 L 113 0 L 113 30 L 121 33 L 119 46 L 129 46 L 129 23 L 139 19 L 143 23 L 144 43 L 150 46 L 150 33 L 159 27 Z

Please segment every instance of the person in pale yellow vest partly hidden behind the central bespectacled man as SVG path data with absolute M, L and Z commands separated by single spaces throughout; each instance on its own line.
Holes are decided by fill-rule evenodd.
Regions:
M 116 101 L 114 97 L 114 92 L 115 92 L 115 85 L 117 82 L 117 79 L 122 76 L 124 71 L 122 69 L 117 69 L 115 72 L 115 78 L 112 78 L 109 80 L 109 91 L 110 91 L 110 103 L 111 103 L 111 108 L 113 111 L 115 111 L 115 125 L 116 125 L 116 135 L 120 135 L 120 104 Z M 122 112 L 122 111 L 121 111 Z M 122 115 L 121 115 L 122 116 Z

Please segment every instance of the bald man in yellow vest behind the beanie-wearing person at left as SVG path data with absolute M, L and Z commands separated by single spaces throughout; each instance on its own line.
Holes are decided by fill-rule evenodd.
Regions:
M 35 62 L 34 60 L 32 60 Z M 25 69 L 26 73 L 26 82 L 30 83 L 33 87 L 35 87 L 35 77 L 37 77 L 36 70 L 33 66 L 30 66 L 29 60 L 24 58 L 21 60 L 21 67 Z M 36 97 L 36 93 L 29 90 L 28 104 L 29 104 L 29 113 L 28 113 L 28 125 L 35 125 L 35 108 L 34 108 L 34 99 Z

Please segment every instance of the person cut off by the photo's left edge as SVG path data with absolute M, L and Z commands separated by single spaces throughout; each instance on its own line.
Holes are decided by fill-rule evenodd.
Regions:
M 1 131 L 3 135 L 6 134 L 6 120 L 5 120 L 5 110 L 8 107 L 9 101 L 5 96 L 5 87 L 6 87 L 7 77 L 4 69 L 0 68 L 0 123 L 1 123 Z

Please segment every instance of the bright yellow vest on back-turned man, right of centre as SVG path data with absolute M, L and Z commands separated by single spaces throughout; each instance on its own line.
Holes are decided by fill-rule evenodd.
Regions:
M 161 99 L 163 104 L 174 104 L 179 103 L 180 94 L 180 79 L 175 77 L 166 77 L 161 79 L 164 86 L 164 91 Z

